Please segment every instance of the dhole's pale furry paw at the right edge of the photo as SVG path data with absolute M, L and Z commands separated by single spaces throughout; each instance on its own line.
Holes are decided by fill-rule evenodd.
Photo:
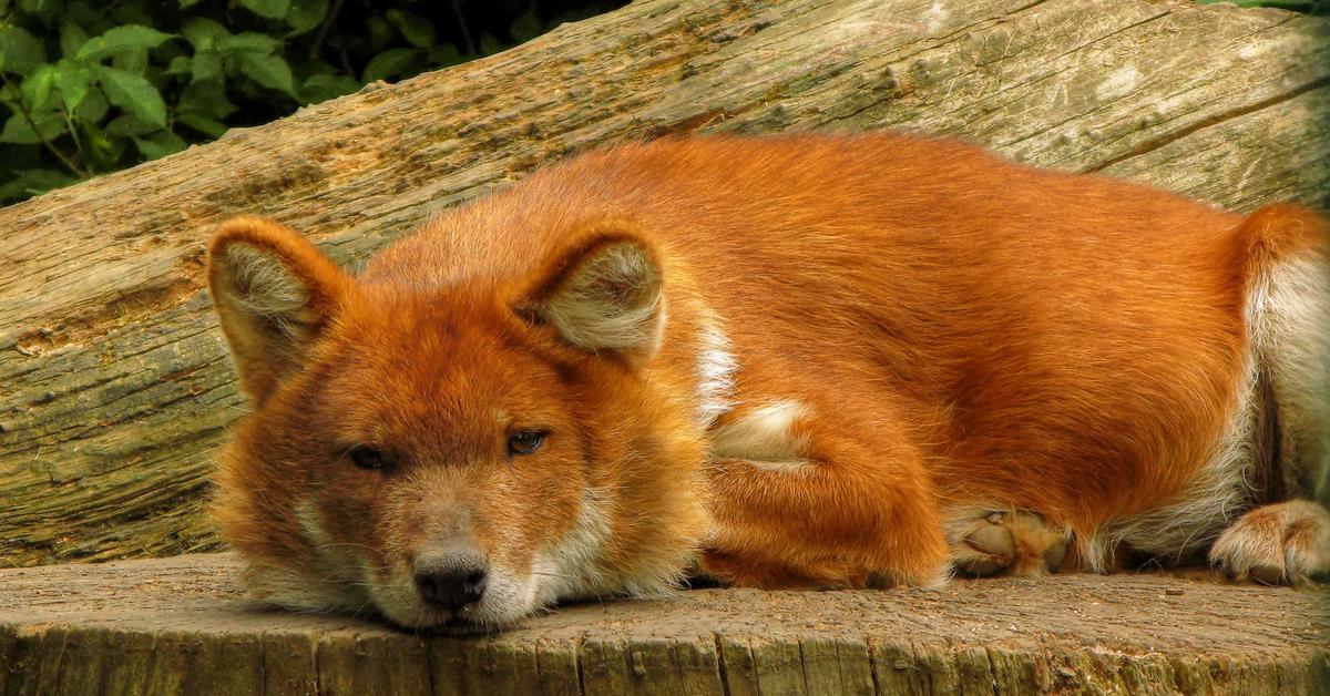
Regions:
M 1210 563 L 1240 580 L 1294 584 L 1330 574 L 1330 511 L 1310 500 L 1258 507 L 1214 546 Z

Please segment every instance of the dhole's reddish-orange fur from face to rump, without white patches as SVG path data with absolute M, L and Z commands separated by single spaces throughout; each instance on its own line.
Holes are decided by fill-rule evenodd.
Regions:
M 591 153 L 448 212 L 355 279 L 242 218 L 214 260 L 270 250 L 315 286 L 318 319 L 291 367 L 270 369 L 286 363 L 247 347 L 219 302 L 255 414 L 223 455 L 217 519 L 255 567 L 293 578 L 344 570 L 311 550 L 293 514 L 306 499 L 368 566 L 464 534 L 523 567 L 608 488 L 596 563 L 617 580 L 593 592 L 646 556 L 682 570 L 694 547 L 737 584 L 936 582 L 948 510 L 1032 510 L 1092 538 L 1182 495 L 1238 409 L 1253 278 L 1323 258 L 1326 238 L 1295 208 L 1244 222 L 892 134 Z M 583 350 L 529 307 L 614 240 L 658 265 L 664 333 Z M 213 273 L 215 291 L 225 262 Z M 733 407 L 700 425 L 708 327 L 737 370 Z M 781 431 L 793 463 L 706 454 L 718 429 L 783 402 L 802 409 Z M 556 435 L 505 463 L 496 418 Z M 340 458 L 366 442 L 410 462 L 411 484 Z

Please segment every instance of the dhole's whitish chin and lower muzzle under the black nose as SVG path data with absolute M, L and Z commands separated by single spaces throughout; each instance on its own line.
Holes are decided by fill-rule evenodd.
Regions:
M 448 635 L 475 635 L 504 631 L 517 625 L 540 608 L 537 578 L 491 570 L 479 600 L 458 609 L 426 602 L 410 574 L 372 579 L 371 602 L 390 624 L 414 631 L 436 631 Z

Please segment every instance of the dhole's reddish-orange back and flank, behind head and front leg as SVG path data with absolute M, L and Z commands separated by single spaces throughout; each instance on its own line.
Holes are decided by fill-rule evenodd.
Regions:
M 604 217 L 668 250 L 762 381 L 891 403 L 934 444 L 943 496 L 1093 530 L 1184 487 L 1234 409 L 1253 273 L 1238 216 L 959 144 L 616 148 L 444 218 L 366 278 L 523 273 Z

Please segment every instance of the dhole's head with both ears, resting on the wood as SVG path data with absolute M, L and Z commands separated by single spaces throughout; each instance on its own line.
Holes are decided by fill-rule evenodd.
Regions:
M 275 222 L 221 229 L 209 282 L 253 414 L 213 515 L 254 595 L 471 631 L 677 578 L 701 444 L 645 377 L 657 253 L 601 224 L 548 257 L 362 281 Z

